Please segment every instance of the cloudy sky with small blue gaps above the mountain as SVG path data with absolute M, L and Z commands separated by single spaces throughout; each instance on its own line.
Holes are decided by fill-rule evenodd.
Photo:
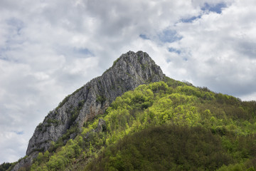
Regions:
M 166 76 L 256 100 L 255 0 L 1 0 L 0 163 L 127 51 Z

